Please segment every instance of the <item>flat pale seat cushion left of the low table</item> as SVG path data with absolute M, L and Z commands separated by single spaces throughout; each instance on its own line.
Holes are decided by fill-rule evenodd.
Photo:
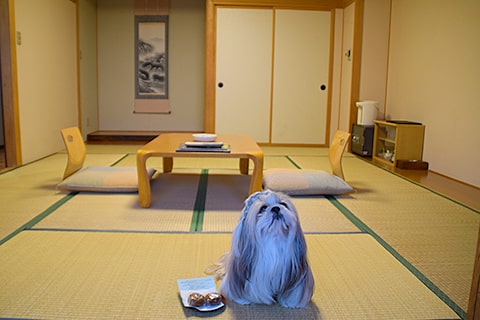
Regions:
M 152 178 L 155 169 L 147 169 Z M 85 167 L 57 185 L 65 191 L 86 192 L 136 192 L 138 178 L 136 167 Z

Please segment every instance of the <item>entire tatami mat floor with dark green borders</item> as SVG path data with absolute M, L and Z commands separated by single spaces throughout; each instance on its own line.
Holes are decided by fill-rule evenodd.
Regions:
M 135 166 L 136 145 L 88 145 L 86 165 Z M 265 147 L 265 167 L 328 168 L 323 148 Z M 248 192 L 234 160 L 178 159 L 136 193 L 59 192 L 59 152 L 0 174 L 0 317 L 179 319 L 176 280 L 229 248 Z M 148 165 L 161 170 L 160 159 Z M 293 197 L 316 280 L 302 310 L 239 306 L 219 319 L 462 319 L 479 212 L 351 154 L 336 197 Z M 196 202 L 201 175 L 205 198 Z M 199 207 L 199 204 L 202 205 Z

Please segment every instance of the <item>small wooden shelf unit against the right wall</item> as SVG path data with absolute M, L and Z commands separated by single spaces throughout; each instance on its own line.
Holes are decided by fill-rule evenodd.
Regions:
M 390 167 L 397 160 L 422 160 L 424 135 L 423 124 L 375 120 L 372 159 Z

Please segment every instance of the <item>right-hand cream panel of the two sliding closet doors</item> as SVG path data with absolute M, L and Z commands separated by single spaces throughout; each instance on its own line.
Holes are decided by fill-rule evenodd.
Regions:
M 275 11 L 272 143 L 326 144 L 330 12 Z

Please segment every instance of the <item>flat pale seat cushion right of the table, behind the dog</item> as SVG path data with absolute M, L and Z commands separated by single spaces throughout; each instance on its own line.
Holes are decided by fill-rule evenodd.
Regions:
M 339 195 L 353 191 L 343 179 L 329 172 L 286 168 L 264 170 L 263 188 L 289 195 Z

